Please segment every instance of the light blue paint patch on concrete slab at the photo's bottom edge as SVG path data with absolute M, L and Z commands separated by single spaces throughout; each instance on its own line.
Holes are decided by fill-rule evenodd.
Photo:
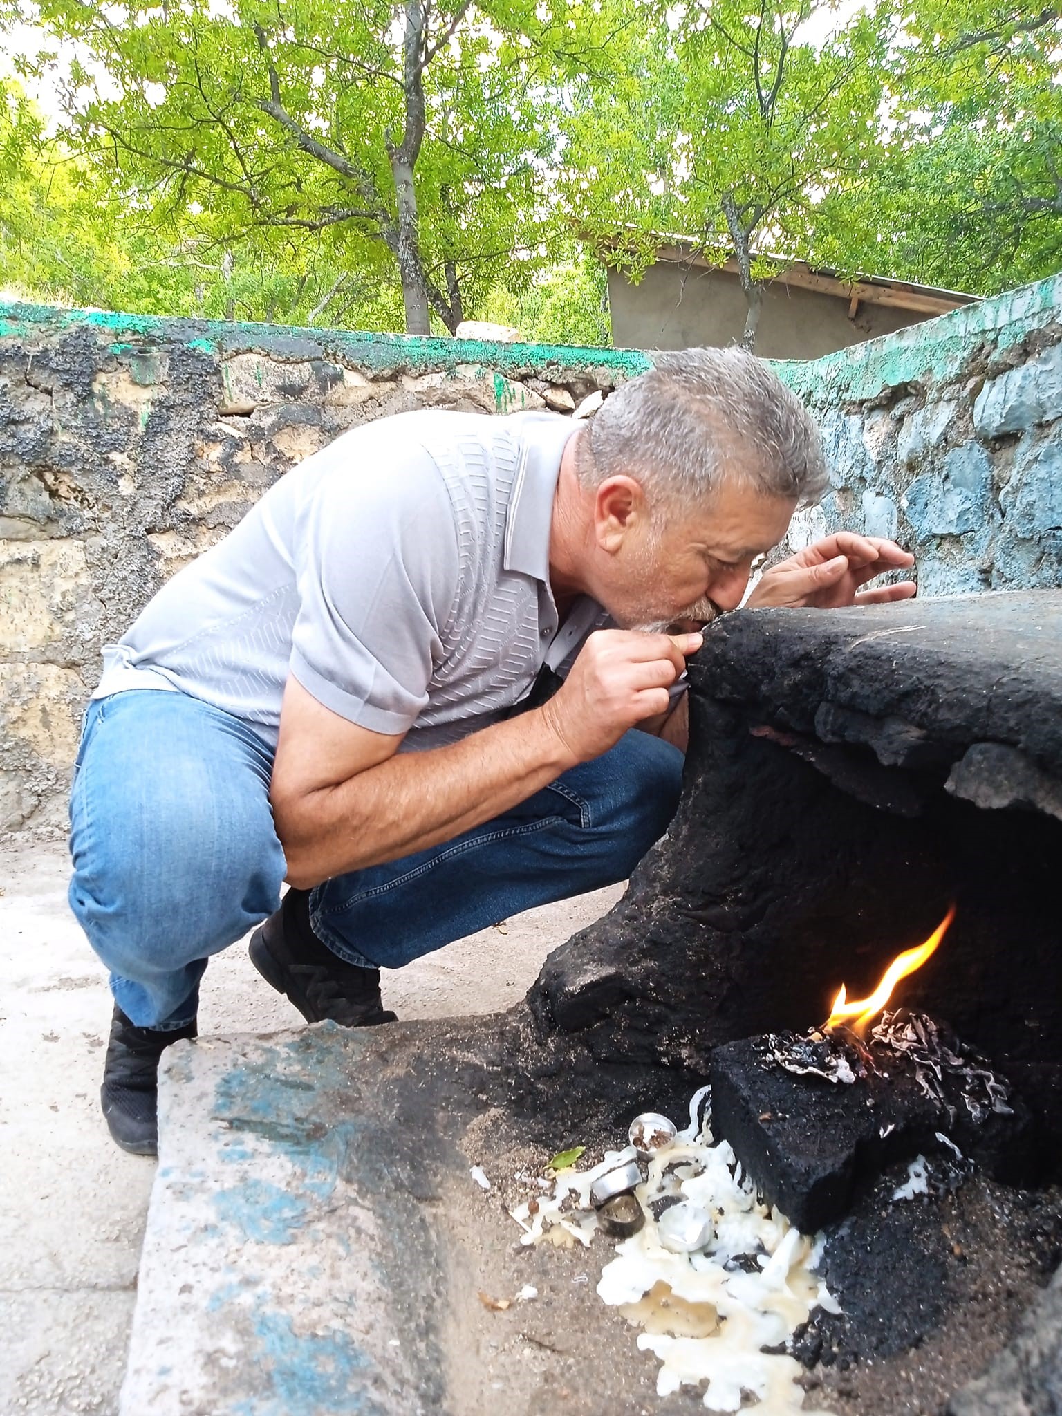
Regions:
M 286 1313 L 259 1313 L 255 1362 L 269 1393 L 231 1408 L 232 1416 L 382 1416 L 370 1388 L 375 1366 L 347 1332 L 299 1334 Z

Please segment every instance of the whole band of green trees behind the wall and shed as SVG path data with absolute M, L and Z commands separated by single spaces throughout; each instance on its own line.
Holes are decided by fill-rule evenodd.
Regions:
M 674 234 L 736 255 L 750 343 L 792 259 L 981 293 L 1062 266 L 1062 20 L 1037 4 L 0 0 L 0 33 L 17 16 L 52 51 L 25 93 L 64 110 L 45 132 L 0 88 L 0 279 L 38 299 L 603 344 L 589 252 L 637 279 Z

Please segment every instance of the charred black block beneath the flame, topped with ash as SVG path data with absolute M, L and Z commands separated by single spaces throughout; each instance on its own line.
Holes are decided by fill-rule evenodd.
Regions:
M 898 1018 L 892 1029 L 912 1027 L 910 1015 L 886 1022 Z M 956 1158 L 954 1147 L 994 1178 L 1035 1175 L 1029 1112 L 983 1059 L 943 1031 L 930 1034 L 932 1045 L 943 1037 L 940 1054 L 920 1049 L 918 1059 L 915 1049 L 889 1046 L 888 1028 L 881 1032 L 867 1049 L 820 1034 L 772 1034 L 712 1055 L 712 1130 L 763 1198 L 806 1232 L 840 1219 L 858 1185 L 919 1153 Z

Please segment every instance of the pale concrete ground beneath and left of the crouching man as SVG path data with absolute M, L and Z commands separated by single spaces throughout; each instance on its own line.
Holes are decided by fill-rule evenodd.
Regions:
M 110 1416 L 125 1371 L 154 1163 L 99 1114 L 106 974 L 67 908 L 62 843 L 0 843 L 0 1412 Z M 384 980 L 401 1018 L 506 1008 L 620 886 L 530 910 Z M 180 922 L 174 922 L 180 927 Z M 242 944 L 211 963 L 200 1032 L 266 1032 L 299 1014 Z

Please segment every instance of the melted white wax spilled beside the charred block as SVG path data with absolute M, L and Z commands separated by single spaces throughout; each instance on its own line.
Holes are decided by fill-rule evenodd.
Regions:
M 616 1246 L 598 1293 L 644 1328 L 637 1345 L 661 1362 L 660 1396 L 705 1383 L 704 1405 L 716 1412 L 736 1412 L 752 1395 L 756 1416 L 826 1416 L 804 1409 L 796 1358 L 762 1351 L 783 1344 L 814 1307 L 840 1311 L 814 1274 L 818 1252 L 783 1215 L 758 1202 L 726 1141 L 715 1144 L 708 1126 L 698 1124 L 705 1092 L 691 1102 L 690 1127 L 650 1161 L 649 1178 L 634 1191 L 644 1228 Z M 582 1174 L 562 1171 L 554 1194 L 538 1201 L 537 1214 L 527 1205 L 514 1209 L 513 1218 L 525 1231 L 523 1243 L 558 1242 L 564 1235 L 562 1242 L 589 1245 L 598 1228 L 596 1215 L 585 1212 L 589 1189 L 619 1155 L 609 1151 L 600 1165 Z M 664 1195 L 690 1199 L 711 1214 L 715 1238 L 704 1253 L 670 1253 L 658 1242 L 649 1206 Z M 759 1270 L 729 1272 L 726 1264 L 736 1255 L 756 1255 Z M 698 1335 L 690 1335 L 691 1327 Z

